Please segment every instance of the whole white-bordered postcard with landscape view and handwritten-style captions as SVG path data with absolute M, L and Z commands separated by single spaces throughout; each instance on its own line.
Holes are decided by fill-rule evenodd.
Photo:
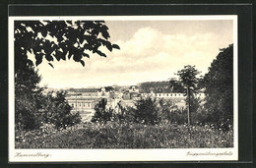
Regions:
M 9 17 L 9 37 L 10 161 L 237 160 L 236 16 Z

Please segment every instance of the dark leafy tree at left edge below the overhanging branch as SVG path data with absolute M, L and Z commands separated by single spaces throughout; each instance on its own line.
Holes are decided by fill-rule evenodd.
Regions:
M 39 108 L 42 87 L 37 84 L 41 78 L 33 66 L 18 71 L 15 78 L 15 123 L 17 129 L 33 130 L 40 126 Z

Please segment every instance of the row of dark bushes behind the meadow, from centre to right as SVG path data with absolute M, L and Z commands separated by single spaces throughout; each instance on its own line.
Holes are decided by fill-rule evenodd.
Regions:
M 209 115 L 207 110 L 199 105 L 199 101 L 194 103 L 194 110 L 191 111 L 191 125 L 212 125 L 213 128 L 222 128 L 228 131 L 232 123 L 225 121 L 223 123 L 215 122 L 215 116 Z M 101 99 L 96 105 L 96 113 L 91 122 L 106 124 L 115 122 L 119 124 L 134 123 L 144 125 L 159 124 L 177 124 L 187 125 L 187 108 L 179 109 L 171 100 L 153 97 L 141 98 L 134 103 L 134 107 L 120 106 L 119 113 L 112 108 L 106 108 L 106 99 Z

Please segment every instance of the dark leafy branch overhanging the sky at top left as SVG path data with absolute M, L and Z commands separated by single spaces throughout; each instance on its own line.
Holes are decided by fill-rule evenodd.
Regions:
M 109 51 L 119 49 L 108 41 L 110 37 L 103 21 L 16 21 L 15 22 L 15 68 L 32 64 L 28 52 L 35 57 L 36 66 L 45 58 L 48 64 L 71 59 L 85 66 L 84 57 L 93 52 L 106 57 L 99 50 L 101 45 Z

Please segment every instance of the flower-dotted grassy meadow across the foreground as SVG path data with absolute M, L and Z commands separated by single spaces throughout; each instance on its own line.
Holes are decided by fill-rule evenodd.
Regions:
M 232 147 L 232 131 L 211 126 L 84 123 L 66 130 L 17 132 L 16 148 L 216 148 Z

